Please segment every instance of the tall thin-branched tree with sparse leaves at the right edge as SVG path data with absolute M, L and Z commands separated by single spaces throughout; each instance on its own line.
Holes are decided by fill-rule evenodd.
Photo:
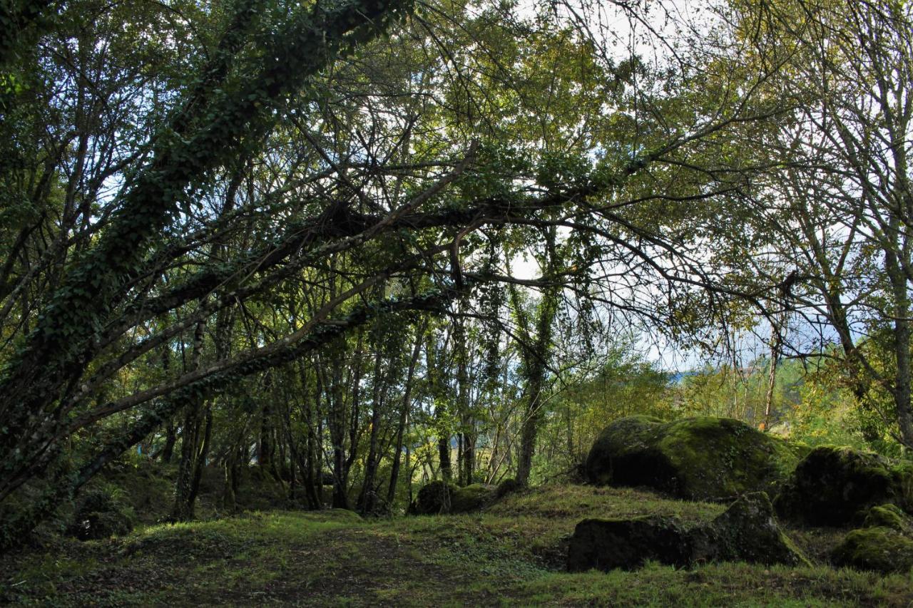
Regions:
M 911 16 L 907 3 L 800 2 L 744 24 L 763 25 L 758 54 L 779 53 L 784 65 L 769 94 L 785 110 L 765 140 L 780 169 L 760 176 L 754 199 L 779 255 L 767 271 L 781 285 L 777 300 L 798 311 L 803 329 L 826 328 L 813 351 L 840 345 L 857 400 L 880 410 L 908 447 Z M 800 353 L 809 346 L 792 344 Z M 887 366 L 876 351 L 889 353 Z

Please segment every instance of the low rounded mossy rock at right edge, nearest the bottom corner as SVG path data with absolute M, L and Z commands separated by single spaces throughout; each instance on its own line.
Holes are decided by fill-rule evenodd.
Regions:
M 887 526 L 855 529 L 834 549 L 832 560 L 857 570 L 907 572 L 913 568 L 913 539 Z

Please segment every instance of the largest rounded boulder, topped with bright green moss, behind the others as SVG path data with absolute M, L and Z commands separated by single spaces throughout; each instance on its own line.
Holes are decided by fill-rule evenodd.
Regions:
M 799 462 L 801 448 L 730 418 L 651 416 L 607 426 L 586 459 L 599 485 L 647 486 L 692 500 L 722 500 L 746 492 L 773 496 Z

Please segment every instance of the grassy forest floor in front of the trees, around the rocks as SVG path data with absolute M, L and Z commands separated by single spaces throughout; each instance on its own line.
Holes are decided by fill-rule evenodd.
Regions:
M 789 530 L 818 565 L 719 563 L 689 570 L 563 571 L 585 517 L 722 507 L 623 488 L 549 486 L 484 512 L 361 519 L 349 511 L 268 511 L 148 526 L 110 540 L 58 540 L 0 557 L 0 603 L 41 605 L 913 605 L 913 579 L 837 570 L 841 531 Z

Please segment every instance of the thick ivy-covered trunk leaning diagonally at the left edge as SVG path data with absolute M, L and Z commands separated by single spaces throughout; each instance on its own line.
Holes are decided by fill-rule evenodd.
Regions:
M 81 16 L 79 10 L 85 8 L 75 5 L 73 13 Z M 70 416 L 84 396 L 79 394 L 80 376 L 102 346 L 120 335 L 115 331 L 112 336 L 110 325 L 123 324 L 125 317 L 130 318 L 131 313 L 123 309 L 125 299 L 135 298 L 138 287 L 144 293 L 152 287 L 143 286 L 143 279 L 150 263 L 154 269 L 162 260 L 154 259 L 154 255 L 149 258 L 151 247 L 182 207 L 185 212 L 192 208 L 190 196 L 205 189 L 220 166 L 230 164 L 233 156 L 243 155 L 245 147 L 262 140 L 276 120 L 278 105 L 306 79 L 339 52 L 348 52 L 358 42 L 375 36 L 384 23 L 402 15 L 406 8 L 404 3 L 384 2 L 301 8 L 276 24 L 275 33 L 266 37 L 257 32 L 257 26 L 268 26 L 258 18 L 263 9 L 260 3 L 252 0 L 229 8 L 223 35 L 194 78 L 189 79 L 180 106 L 152 136 L 149 150 L 137 150 L 134 158 L 126 159 L 134 164 L 133 172 L 104 216 L 103 230 L 98 223 L 89 228 L 89 210 L 79 210 L 84 230 L 91 230 L 95 236 L 94 243 L 67 268 L 58 284 L 51 285 L 47 299 L 39 303 L 36 326 L 26 328 L 21 346 L 5 364 L 0 378 L 0 414 L 5 420 L 0 428 L 4 462 L 0 499 L 57 461 L 60 439 L 72 432 L 74 421 Z M 254 40 L 257 52 L 252 53 L 250 44 Z M 82 128 L 85 145 L 91 133 L 84 125 L 76 126 Z M 122 171 L 122 167 L 118 169 Z M 5 172 L 7 180 L 15 177 L 16 173 Z M 110 173 L 102 173 L 102 178 L 109 177 Z M 99 189 L 103 181 L 97 180 L 95 188 Z M 91 204 L 91 193 L 80 194 Z M 67 244 L 70 225 L 73 221 L 65 220 L 58 243 Z M 20 235 L 27 236 L 32 229 L 26 225 Z M 24 243 L 25 238 L 16 240 L 10 260 Z M 52 249 L 52 255 L 60 256 L 60 248 Z M 35 273 L 23 269 L 11 280 L 15 269 L 7 263 L 4 280 L 12 296 L 7 308 L 14 305 L 16 297 L 26 304 L 21 299 L 25 286 L 35 279 Z M 130 303 L 126 306 L 129 309 Z M 118 316 L 112 314 L 115 311 Z M 128 321 L 128 327 L 121 331 L 131 325 Z M 173 412 L 182 403 L 182 399 L 172 399 L 151 416 L 158 422 L 164 412 Z M 97 415 L 103 414 L 89 414 L 89 418 Z M 154 424 L 139 425 L 142 430 L 133 435 L 146 435 Z M 103 456 L 96 458 L 76 480 L 58 486 L 65 488 L 63 492 L 72 491 L 103 460 Z M 48 498 L 44 502 L 53 501 Z M 48 504 L 39 504 L 37 509 L 47 509 Z M 5 534 L 5 542 L 12 538 L 15 532 Z

